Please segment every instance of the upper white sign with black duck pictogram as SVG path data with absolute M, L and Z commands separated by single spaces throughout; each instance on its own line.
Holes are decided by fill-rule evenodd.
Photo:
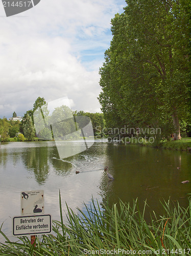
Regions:
M 21 215 L 38 215 L 44 213 L 44 190 L 20 192 Z

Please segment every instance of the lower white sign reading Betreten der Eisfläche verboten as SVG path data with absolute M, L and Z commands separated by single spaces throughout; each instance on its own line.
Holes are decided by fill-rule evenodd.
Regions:
M 52 232 L 52 216 L 17 216 L 13 217 L 13 236 L 47 234 Z

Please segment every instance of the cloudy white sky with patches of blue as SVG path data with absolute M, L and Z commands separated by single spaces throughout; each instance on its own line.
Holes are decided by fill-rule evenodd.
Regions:
M 0 3 L 0 118 L 22 116 L 40 96 L 68 97 L 73 110 L 100 112 L 99 68 L 110 21 L 125 0 L 41 0 L 6 17 Z

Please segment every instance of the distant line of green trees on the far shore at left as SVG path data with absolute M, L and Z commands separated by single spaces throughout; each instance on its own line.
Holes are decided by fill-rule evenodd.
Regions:
M 23 116 L 22 121 L 8 121 L 7 118 L 0 118 L 0 141 L 10 141 L 10 138 L 15 138 L 15 141 L 24 141 L 24 140 L 34 140 L 34 137 L 37 136 L 35 134 L 35 126 L 34 126 L 34 112 L 40 108 L 43 109 L 47 106 L 46 101 L 42 97 L 38 97 L 33 104 L 33 109 L 29 110 Z M 47 110 L 46 110 L 47 111 Z M 45 113 L 45 112 L 44 112 Z M 48 113 L 49 114 L 49 113 Z M 94 136 L 102 136 L 101 131 L 103 131 L 105 127 L 105 120 L 103 117 L 103 113 L 89 113 L 84 111 L 72 111 L 67 106 L 60 106 L 55 108 L 52 115 L 49 118 L 53 118 L 55 122 L 60 120 L 64 120 L 65 116 L 86 116 L 91 120 L 92 129 Z M 13 113 L 13 117 L 16 117 L 16 113 Z M 73 127 L 65 127 L 65 126 L 74 126 L 73 120 L 68 122 L 61 122 L 60 127 L 57 129 L 57 133 L 60 133 L 62 136 L 64 133 L 67 133 L 66 130 L 73 129 Z M 75 127 L 74 127 L 75 129 Z M 73 130 L 74 130 L 73 129 Z M 69 134 L 69 133 L 68 133 Z M 57 134 L 59 136 L 59 134 Z M 42 131 L 40 131 L 39 137 L 45 140 L 52 140 L 53 134 L 50 127 L 45 127 Z

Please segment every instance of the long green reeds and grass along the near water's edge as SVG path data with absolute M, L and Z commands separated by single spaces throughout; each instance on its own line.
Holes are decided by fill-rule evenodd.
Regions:
M 68 224 L 62 220 L 54 221 L 54 235 L 37 238 L 36 247 L 30 245 L 27 237 L 11 243 L 6 236 L 6 244 L 0 245 L 0 255 L 189 255 L 191 248 L 191 203 L 186 209 L 163 204 L 163 216 L 152 212 L 150 224 L 145 221 L 137 201 L 133 206 L 120 202 L 112 208 L 92 200 L 91 208 L 86 206 L 87 214 L 79 209 L 79 214 L 67 208 Z M 61 200 L 60 200 L 61 210 Z M 115 251 L 114 251 L 115 250 Z M 124 253 L 121 250 L 125 250 Z M 117 251 L 117 253 L 116 253 Z M 115 252 L 115 253 L 114 253 Z M 158 253 L 157 253 L 158 252 Z

